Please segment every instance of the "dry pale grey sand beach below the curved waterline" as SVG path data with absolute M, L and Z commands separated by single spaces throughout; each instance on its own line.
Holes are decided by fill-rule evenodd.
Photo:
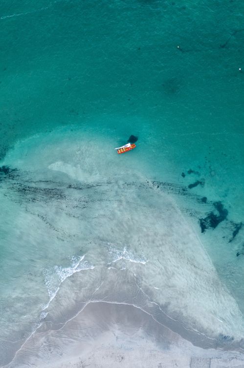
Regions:
M 46 327 L 6 367 L 244 368 L 244 355 L 195 347 L 130 305 L 90 303 L 63 328 Z

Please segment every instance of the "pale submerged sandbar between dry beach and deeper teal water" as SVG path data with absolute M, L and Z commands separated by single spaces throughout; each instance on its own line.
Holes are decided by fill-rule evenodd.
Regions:
M 242 314 L 175 201 L 151 185 L 138 156 L 118 161 L 103 137 L 92 139 L 88 152 L 89 133 L 39 135 L 5 158 L 15 169 L 2 181 L 5 244 L 14 250 L 18 239 L 19 252 L 8 303 L 18 296 L 11 288 L 31 292 L 18 323 L 3 321 L 4 350 L 11 334 L 18 350 L 98 301 L 140 308 L 199 346 L 239 346 Z M 4 354 L 7 364 L 14 349 Z

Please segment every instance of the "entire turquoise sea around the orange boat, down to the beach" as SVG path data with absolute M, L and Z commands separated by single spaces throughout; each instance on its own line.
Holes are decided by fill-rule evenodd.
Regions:
M 1 366 L 95 300 L 244 346 L 243 42 L 241 1 L 1 1 Z

